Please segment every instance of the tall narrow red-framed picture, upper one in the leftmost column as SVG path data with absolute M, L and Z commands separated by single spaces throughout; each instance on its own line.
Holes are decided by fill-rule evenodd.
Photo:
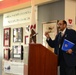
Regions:
M 11 28 L 4 28 L 4 46 L 10 47 Z

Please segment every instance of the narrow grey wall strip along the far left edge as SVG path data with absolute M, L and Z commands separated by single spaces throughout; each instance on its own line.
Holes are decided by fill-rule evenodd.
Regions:
M 0 75 L 2 74 L 2 57 L 3 57 L 3 15 L 0 15 Z

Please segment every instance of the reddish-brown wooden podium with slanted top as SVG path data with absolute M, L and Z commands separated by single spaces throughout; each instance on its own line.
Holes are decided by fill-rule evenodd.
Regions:
M 29 45 L 28 75 L 57 75 L 57 55 L 41 44 Z

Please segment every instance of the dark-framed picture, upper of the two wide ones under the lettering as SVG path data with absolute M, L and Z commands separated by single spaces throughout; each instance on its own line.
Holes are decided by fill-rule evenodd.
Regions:
M 13 42 L 22 42 L 23 41 L 23 28 L 14 28 L 13 29 Z

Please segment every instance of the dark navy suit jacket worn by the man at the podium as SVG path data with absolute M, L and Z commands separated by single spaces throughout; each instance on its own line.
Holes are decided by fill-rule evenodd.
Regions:
M 46 40 L 49 46 L 55 48 L 55 54 L 57 55 L 59 55 L 58 39 L 59 39 L 59 34 L 56 36 L 55 40 L 52 40 L 51 38 L 49 40 Z M 72 47 L 73 54 L 68 54 L 65 51 L 62 51 L 62 53 L 63 53 L 64 60 L 68 66 L 76 66 L 76 31 L 72 29 L 66 29 L 63 39 L 67 39 L 75 44 Z M 61 46 L 62 44 L 63 44 L 63 41 L 61 43 Z

